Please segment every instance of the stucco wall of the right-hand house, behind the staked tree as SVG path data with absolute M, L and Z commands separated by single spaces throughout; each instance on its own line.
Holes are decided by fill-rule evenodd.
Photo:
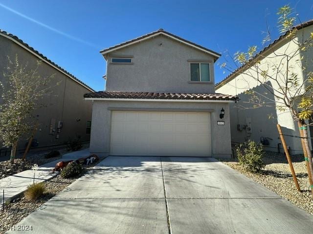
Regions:
M 312 31 L 312 27 L 308 27 L 305 29 L 306 32 L 310 30 Z M 300 35 L 302 35 L 302 31 L 298 32 L 299 37 L 301 37 Z M 273 49 L 275 51 L 275 54 L 279 55 L 284 53 L 291 54 L 292 52 L 295 52 L 298 48 L 297 45 L 293 42 L 288 43 L 288 41 L 286 40 L 281 40 L 273 47 Z M 305 58 L 311 61 L 308 68 L 312 70 L 312 50 L 305 52 L 304 54 Z M 298 78 L 301 82 L 301 80 L 303 80 L 304 74 L 302 72 L 302 63 L 300 61 L 300 56 L 301 55 L 299 54 L 296 58 L 291 60 L 291 64 L 293 65 L 293 68 L 291 70 L 298 75 Z M 268 67 L 269 72 L 272 73 L 271 66 L 279 64 L 280 57 L 275 56 L 271 51 L 266 52 L 264 54 L 264 57 L 265 58 L 261 60 L 260 67 L 264 70 Z M 248 69 L 245 71 L 245 73 L 249 73 L 251 76 L 256 76 L 256 73 L 253 71 L 253 69 Z M 278 77 L 278 82 L 285 83 L 282 77 Z M 276 90 L 278 89 L 278 83 L 276 81 L 268 80 L 268 85 Z M 270 145 L 265 146 L 265 149 L 268 151 L 277 151 L 277 144 L 281 143 L 276 127 L 277 123 L 282 126 L 283 132 L 285 134 L 299 136 L 298 125 L 292 119 L 291 113 L 289 111 L 279 111 L 275 109 L 273 105 L 271 105 L 271 107 L 261 107 L 255 109 L 252 108 L 253 106 L 251 104 L 247 104 L 246 102 L 250 101 L 250 95 L 247 95 L 244 92 L 249 89 L 266 95 L 268 98 L 274 100 L 276 106 L 281 105 L 277 102 L 277 98 L 275 99 L 274 96 L 270 94 L 270 92 L 265 90 L 262 85 L 260 85 L 255 79 L 251 78 L 249 75 L 235 75 L 224 84 L 218 85 L 218 87 L 216 87 L 216 92 L 237 95 L 241 98 L 238 103 L 231 103 L 230 105 L 231 140 L 233 142 L 244 142 L 247 139 L 260 141 L 260 137 L 269 137 Z M 280 96 L 280 94 L 277 92 L 274 92 L 274 94 Z M 265 98 L 262 99 L 266 100 Z M 267 102 L 268 101 L 269 100 L 267 100 Z M 269 116 L 272 116 L 273 118 L 269 118 Z M 248 134 L 246 132 L 246 129 L 243 129 L 242 131 L 237 130 L 238 124 L 246 124 L 246 117 L 251 118 L 251 134 Z M 287 144 L 291 148 L 292 154 L 302 153 L 302 147 L 299 138 L 285 137 L 285 139 L 287 141 Z M 282 152 L 282 147 L 280 148 L 280 150 Z

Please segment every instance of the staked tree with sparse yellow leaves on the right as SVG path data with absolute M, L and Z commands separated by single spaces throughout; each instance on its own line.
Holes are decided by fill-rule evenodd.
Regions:
M 272 106 L 280 112 L 291 113 L 299 125 L 300 133 L 303 133 L 302 147 L 307 154 L 308 175 L 312 179 L 313 161 L 307 127 L 313 125 L 313 71 L 308 68 L 310 61 L 306 61 L 304 54 L 309 51 L 313 53 L 313 32 L 304 32 L 305 25 L 302 23 L 294 26 L 296 17 L 293 17 L 289 5 L 281 7 L 277 14 L 282 34 L 280 39 L 286 41 L 279 51 L 268 30 L 263 40 L 264 43 L 270 42 L 268 55 L 257 53 L 257 46 L 251 46 L 246 52 L 228 55 L 231 59 L 226 59 L 221 67 L 230 72 L 235 70 L 233 73 L 242 77 L 248 85 L 244 93 L 249 96 L 246 102 L 249 106 L 241 105 L 241 108 Z M 250 86 L 249 83 L 253 84 Z M 253 89 L 255 84 L 260 85 L 262 91 Z

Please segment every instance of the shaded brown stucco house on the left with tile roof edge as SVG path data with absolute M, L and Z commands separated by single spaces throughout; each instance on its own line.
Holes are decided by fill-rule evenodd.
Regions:
M 41 101 L 46 107 L 33 113 L 34 116 L 38 115 L 40 123 L 34 137 L 38 141 L 38 147 L 63 144 L 69 138 L 73 139 L 77 136 L 80 136 L 82 141 L 89 141 L 92 105 L 84 101 L 82 96 L 86 92 L 92 92 L 93 89 L 18 37 L 0 30 L 0 81 L 4 86 L 7 85 L 3 77 L 8 65 L 7 56 L 14 62 L 16 55 L 19 63 L 27 64 L 28 69 L 35 69 L 37 61 L 41 60 L 42 65 L 39 67 L 41 77 L 54 75 L 49 84 L 52 93 Z M 25 148 L 26 142 L 21 140 L 19 149 Z

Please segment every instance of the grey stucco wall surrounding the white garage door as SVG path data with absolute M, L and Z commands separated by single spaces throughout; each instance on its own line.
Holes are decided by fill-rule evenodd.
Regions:
M 159 102 L 159 101 L 105 101 L 95 100 L 92 106 L 92 128 L 90 139 L 90 152 L 98 155 L 109 155 L 111 111 L 109 107 L 124 108 L 153 108 L 153 109 L 213 109 L 211 113 L 211 142 L 212 156 L 230 157 L 230 122 L 228 103 L 204 102 Z M 225 125 L 217 125 L 221 120 L 219 115 L 224 108 Z

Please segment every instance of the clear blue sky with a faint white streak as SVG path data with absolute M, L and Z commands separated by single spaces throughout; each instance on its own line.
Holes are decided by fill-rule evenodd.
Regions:
M 0 29 L 10 32 L 95 90 L 104 89 L 103 48 L 163 28 L 225 55 L 273 39 L 277 9 L 290 4 L 302 21 L 313 0 L 0 0 Z M 10 9 L 8 9 L 10 8 Z M 227 73 L 215 65 L 215 81 Z

